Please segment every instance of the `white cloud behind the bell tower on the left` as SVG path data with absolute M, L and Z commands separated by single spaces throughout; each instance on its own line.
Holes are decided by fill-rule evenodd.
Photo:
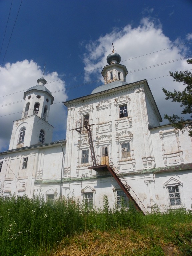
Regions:
M 24 105 L 23 92 L 28 90 L 30 87 L 37 85 L 37 79 L 40 77 L 42 77 L 42 70 L 33 60 L 7 63 L 5 67 L 2 67 L 0 73 L 0 91 L 1 96 L 5 97 L 0 98 L 0 106 L 5 104 L 9 105 L 0 107 L 0 151 L 8 149 L 13 121 L 21 118 Z M 45 86 L 51 92 L 62 90 L 60 92 L 52 93 L 55 97 L 54 103 L 60 103 L 53 103 L 50 108 L 49 115 L 49 123 L 55 127 L 53 139 L 62 139 L 65 138 L 64 128 L 66 125 L 63 122 L 66 114 L 62 104 L 62 101 L 67 99 L 65 90 L 63 90 L 65 89 L 65 82 L 63 80 L 59 80 L 60 78 L 57 72 L 45 73 L 44 78 L 47 81 Z M 52 81 L 56 82 L 50 83 Z M 13 102 L 18 103 L 11 104 Z

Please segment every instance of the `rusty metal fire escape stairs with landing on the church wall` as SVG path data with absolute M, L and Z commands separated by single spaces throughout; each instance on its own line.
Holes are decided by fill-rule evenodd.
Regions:
M 119 186 L 121 187 L 121 189 L 123 190 L 123 192 L 125 193 L 125 195 L 129 198 L 129 200 L 131 200 L 133 202 L 133 205 L 135 206 L 135 208 L 142 212 L 144 214 L 144 212 L 142 211 L 142 209 L 140 208 L 140 206 L 138 205 L 138 203 L 136 202 L 136 200 L 133 198 L 133 196 L 130 194 L 130 189 L 132 190 L 132 192 L 135 194 L 135 192 L 133 191 L 133 189 L 127 184 L 127 182 L 125 181 L 124 177 L 122 176 L 122 174 L 117 170 L 117 168 L 114 166 L 114 164 L 111 162 L 110 158 L 107 155 L 100 155 L 100 156 L 96 156 L 95 155 L 95 151 L 94 151 L 94 145 L 93 145 L 93 139 L 92 139 L 92 134 L 91 134 L 91 129 L 90 129 L 90 125 L 89 121 L 85 122 L 84 120 L 84 125 L 81 126 L 82 124 L 82 120 L 77 120 L 77 126 L 78 128 L 76 128 L 75 130 L 79 133 L 81 133 L 82 129 L 86 129 L 87 130 L 87 134 L 88 134 L 88 139 L 89 139 L 89 146 L 90 146 L 90 151 L 91 151 L 91 159 L 92 159 L 92 166 L 88 167 L 88 169 L 93 169 L 97 172 L 102 172 L 102 171 L 106 171 L 108 170 L 111 175 L 114 177 L 114 179 L 117 181 L 117 183 L 119 184 Z M 102 158 L 102 162 L 100 163 L 100 159 Z M 135 194 L 135 196 L 138 198 L 138 196 Z M 140 201 L 140 199 L 138 198 L 138 200 Z M 140 201 L 140 203 L 143 205 L 143 203 Z M 143 207 L 145 208 L 145 206 L 143 205 Z

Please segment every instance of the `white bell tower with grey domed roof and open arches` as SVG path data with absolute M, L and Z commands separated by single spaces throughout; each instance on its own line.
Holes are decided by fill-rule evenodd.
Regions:
M 54 97 L 45 87 L 44 77 L 37 85 L 24 92 L 21 119 L 14 121 L 9 150 L 52 141 L 53 126 L 48 123 Z

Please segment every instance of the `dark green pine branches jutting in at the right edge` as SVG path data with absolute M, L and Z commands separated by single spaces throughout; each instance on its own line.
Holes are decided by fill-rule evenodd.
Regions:
M 187 60 L 188 64 L 192 64 L 192 59 Z M 170 92 L 163 88 L 163 92 L 166 95 L 166 100 L 171 99 L 173 102 L 181 103 L 181 107 L 183 110 L 181 111 L 182 114 L 192 114 L 192 73 L 189 71 L 175 71 L 169 72 L 170 76 L 173 77 L 173 81 L 182 82 L 183 85 L 187 85 L 183 91 L 176 91 Z M 192 115 L 190 116 L 192 117 Z M 188 127 L 189 136 L 192 136 L 192 122 L 191 121 L 184 121 L 183 117 L 179 117 L 178 115 L 168 116 L 165 114 L 165 119 L 168 119 L 170 123 L 173 124 L 173 127 L 185 131 Z

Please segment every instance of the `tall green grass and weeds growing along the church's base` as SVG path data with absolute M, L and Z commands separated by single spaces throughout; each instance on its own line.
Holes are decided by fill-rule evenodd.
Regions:
M 94 229 L 130 228 L 151 236 L 153 240 L 154 234 L 158 235 L 156 227 L 159 227 L 165 239 L 169 240 L 174 233 L 178 242 L 181 240 L 180 224 L 191 221 L 191 211 L 156 212 L 143 216 L 131 206 L 128 211 L 125 207 L 118 209 L 116 205 L 110 209 L 106 196 L 103 209 L 86 208 L 75 202 L 73 196 L 57 200 L 54 204 L 45 202 L 43 197 L 29 199 L 25 196 L 20 199 L 12 196 L 9 200 L 0 197 L 0 255 L 49 255 L 64 238 Z M 192 231 L 188 232 L 187 236 L 192 236 Z

